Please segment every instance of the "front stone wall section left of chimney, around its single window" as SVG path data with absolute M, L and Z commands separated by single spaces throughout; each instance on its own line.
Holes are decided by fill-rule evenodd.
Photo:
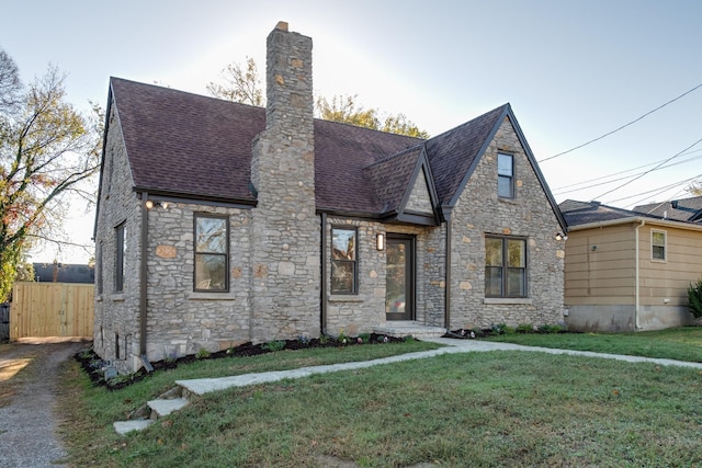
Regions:
M 229 292 L 194 292 L 194 217 L 229 221 Z M 219 351 L 251 341 L 251 212 L 169 203 L 149 210 L 149 359 Z

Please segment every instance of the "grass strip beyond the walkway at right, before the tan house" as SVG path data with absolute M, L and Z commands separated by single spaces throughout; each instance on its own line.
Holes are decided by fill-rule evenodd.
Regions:
M 510 333 L 490 341 L 702 363 L 702 327 L 636 333 Z

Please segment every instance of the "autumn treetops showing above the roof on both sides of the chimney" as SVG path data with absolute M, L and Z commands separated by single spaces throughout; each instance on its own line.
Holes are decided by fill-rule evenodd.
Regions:
M 256 61 L 247 57 L 246 64 L 246 70 L 239 64 L 229 64 L 222 70 L 224 83 L 210 82 L 207 91 L 213 96 L 226 101 L 264 105 L 265 100 L 263 99 Z M 364 109 L 358 104 L 358 94 L 335 95 L 331 100 L 319 98 L 315 102 L 315 109 L 319 117 L 325 121 L 340 122 L 410 137 L 429 138 L 429 134 L 408 121 L 405 114 L 382 116 L 377 109 Z

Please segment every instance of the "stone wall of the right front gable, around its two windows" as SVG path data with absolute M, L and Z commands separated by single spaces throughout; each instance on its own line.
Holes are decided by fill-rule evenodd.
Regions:
M 514 155 L 513 199 L 497 195 L 497 152 Z M 564 244 L 557 218 L 506 118 L 452 214 L 451 329 L 563 322 Z M 528 239 L 528 298 L 485 298 L 485 235 Z

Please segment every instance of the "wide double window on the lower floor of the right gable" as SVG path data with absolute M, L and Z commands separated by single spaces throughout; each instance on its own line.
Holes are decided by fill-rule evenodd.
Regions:
M 485 296 L 526 297 L 526 241 L 485 237 Z

